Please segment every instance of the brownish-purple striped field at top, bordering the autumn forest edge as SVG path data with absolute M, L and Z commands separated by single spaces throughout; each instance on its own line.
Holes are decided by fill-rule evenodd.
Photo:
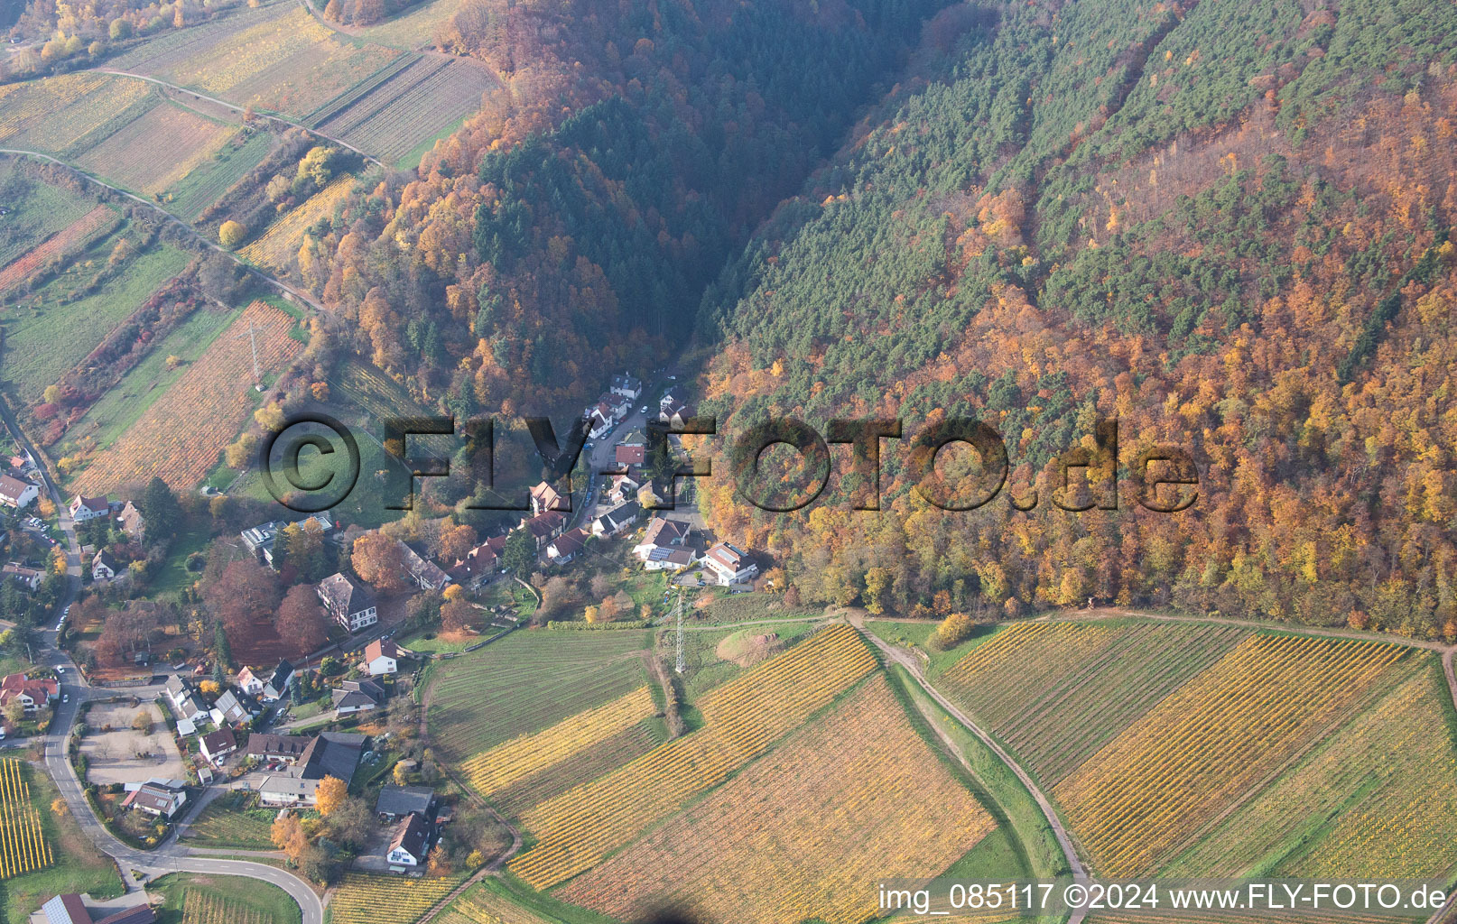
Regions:
M 476 112 L 491 86 L 494 80 L 484 67 L 425 57 L 331 115 L 319 128 L 382 160 L 402 163 L 423 143 L 447 134 Z

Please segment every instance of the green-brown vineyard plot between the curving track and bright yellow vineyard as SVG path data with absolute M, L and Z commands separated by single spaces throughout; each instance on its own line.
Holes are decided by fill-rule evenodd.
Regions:
M 1053 784 L 1249 634 L 1144 621 L 1023 622 L 932 679 Z

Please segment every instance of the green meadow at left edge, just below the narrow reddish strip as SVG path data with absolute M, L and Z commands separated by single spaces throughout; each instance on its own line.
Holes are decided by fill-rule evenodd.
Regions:
M 70 297 L 106 265 L 114 242 L 102 240 L 42 290 L 0 313 L 6 332 L 0 376 L 25 404 L 39 401 L 45 386 L 95 350 L 189 259 L 188 254 L 157 243 L 133 257 L 99 290 Z

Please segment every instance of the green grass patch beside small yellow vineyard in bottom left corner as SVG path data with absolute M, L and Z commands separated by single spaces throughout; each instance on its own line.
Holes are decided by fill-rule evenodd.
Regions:
M 89 892 L 96 898 L 121 895 L 117 864 L 92 845 L 70 813 L 58 816 L 51 812 L 51 802 L 60 796 L 51 778 L 34 767 L 26 767 L 25 777 L 31 806 L 51 845 L 52 863 L 45 869 L 0 880 L 6 924 L 26 921 L 32 911 L 58 892 Z

